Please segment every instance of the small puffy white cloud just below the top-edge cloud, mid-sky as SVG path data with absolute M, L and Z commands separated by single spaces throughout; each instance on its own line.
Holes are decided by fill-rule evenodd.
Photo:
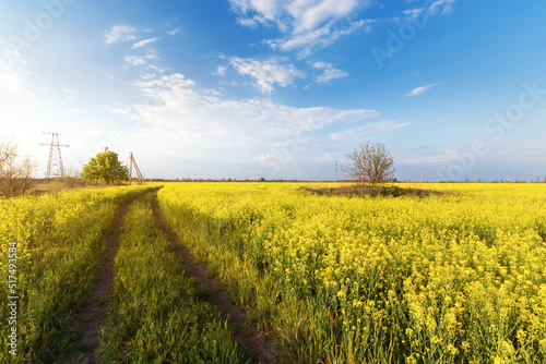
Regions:
M 264 94 L 271 94 L 275 85 L 286 87 L 293 85 L 295 78 L 305 77 L 305 73 L 297 70 L 293 64 L 280 64 L 280 61 L 275 58 L 259 61 L 234 57 L 229 63 L 239 74 L 254 78 L 256 86 Z

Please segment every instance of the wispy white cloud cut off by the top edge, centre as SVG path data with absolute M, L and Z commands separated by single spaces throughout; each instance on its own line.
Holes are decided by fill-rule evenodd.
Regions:
M 360 5 L 358 0 L 229 0 L 244 26 L 276 26 L 284 37 L 270 39 L 273 49 L 299 49 L 300 58 L 313 49 L 330 46 L 341 36 L 368 25 L 370 21 L 349 21 Z M 368 25 L 369 26 L 369 25 Z

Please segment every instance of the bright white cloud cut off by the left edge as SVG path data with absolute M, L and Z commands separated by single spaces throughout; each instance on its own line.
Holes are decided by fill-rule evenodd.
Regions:
M 0 95 L 35 98 L 27 84 L 29 75 L 31 73 L 21 60 L 21 54 L 4 49 L 3 57 L 0 57 Z

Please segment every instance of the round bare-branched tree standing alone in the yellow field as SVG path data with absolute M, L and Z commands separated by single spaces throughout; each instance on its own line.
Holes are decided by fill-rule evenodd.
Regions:
M 360 144 L 359 148 L 347 154 L 351 162 L 342 166 L 342 170 L 351 179 L 360 183 L 387 182 L 394 173 L 394 160 L 381 143 Z

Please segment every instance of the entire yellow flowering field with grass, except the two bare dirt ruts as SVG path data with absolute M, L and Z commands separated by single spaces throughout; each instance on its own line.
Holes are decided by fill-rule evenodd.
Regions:
M 78 313 L 127 205 L 99 362 L 254 361 L 158 229 L 157 196 L 179 241 L 254 327 L 274 332 L 286 363 L 545 362 L 546 185 L 426 187 L 446 193 L 166 183 L 0 199 L 0 361 L 67 362 L 85 350 Z

